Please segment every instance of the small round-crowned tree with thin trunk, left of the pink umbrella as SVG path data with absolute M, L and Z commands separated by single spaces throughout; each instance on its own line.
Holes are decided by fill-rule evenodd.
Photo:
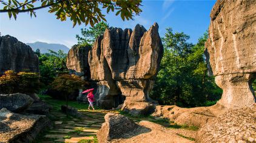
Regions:
M 51 85 L 55 90 L 64 94 L 68 107 L 69 95 L 73 94 L 75 90 L 83 88 L 84 84 L 85 82 L 79 76 L 64 74 L 56 77 Z

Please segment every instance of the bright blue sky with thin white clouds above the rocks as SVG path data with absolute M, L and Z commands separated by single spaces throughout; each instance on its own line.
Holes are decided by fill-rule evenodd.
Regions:
M 215 0 L 143 0 L 143 12 L 140 16 L 135 16 L 134 21 L 122 21 L 115 13 L 110 13 L 106 19 L 110 26 L 132 29 L 136 24 L 149 29 L 154 22 L 158 22 L 160 36 L 164 36 L 167 27 L 172 27 L 174 32 L 184 32 L 190 36 L 189 42 L 196 43 L 209 27 L 209 15 L 214 4 Z M 73 28 L 69 19 L 61 22 L 47 11 L 48 8 L 37 10 L 36 18 L 20 13 L 16 21 L 10 20 L 7 13 L 1 13 L 0 32 L 2 35 L 15 36 L 25 43 L 40 41 L 64 44 L 69 48 L 76 44 L 75 35 L 85 25 L 76 25 Z

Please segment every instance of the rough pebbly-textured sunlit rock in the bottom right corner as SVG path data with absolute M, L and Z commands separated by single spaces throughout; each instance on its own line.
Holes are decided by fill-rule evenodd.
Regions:
M 226 111 L 207 122 L 196 142 L 256 142 L 256 104 Z

